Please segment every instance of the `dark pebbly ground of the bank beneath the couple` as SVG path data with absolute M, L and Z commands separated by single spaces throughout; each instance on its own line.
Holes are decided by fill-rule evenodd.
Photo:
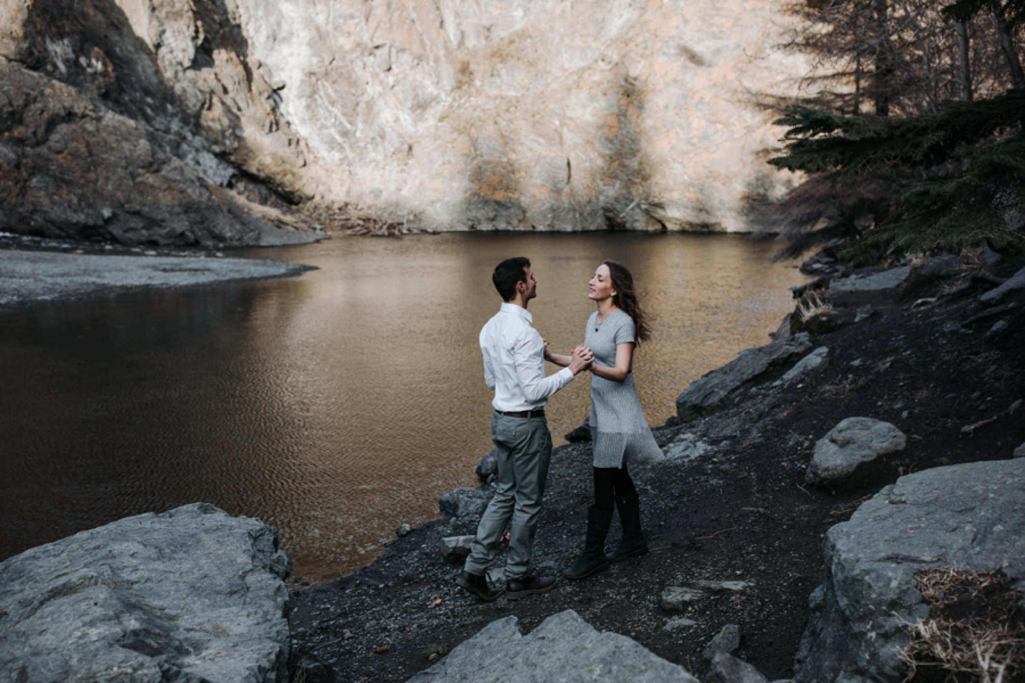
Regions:
M 1007 278 L 1021 265 L 994 272 Z M 905 300 L 896 290 L 828 293 L 844 323 L 813 336 L 813 348 L 829 347 L 827 367 L 788 388 L 773 386 L 788 367 L 771 370 L 704 417 L 655 429 L 663 445 L 690 432 L 715 447 L 686 464 L 633 468 L 652 552 L 610 571 L 563 581 L 550 593 L 518 602 L 483 603 L 452 583 L 459 567 L 438 550 L 442 537 L 473 533 L 475 524 L 442 519 L 397 538 L 347 577 L 316 587 L 296 578 L 293 666 L 306 680 L 330 670 L 336 681 L 403 681 L 430 666 L 432 652 L 451 649 L 496 618 L 515 614 L 529 631 L 574 609 L 597 629 L 630 636 L 698 678 L 707 669 L 704 645 L 725 625 L 737 624 L 736 655 L 770 680 L 789 678 L 808 597 L 822 580 L 826 529 L 901 474 L 1011 458 L 1025 441 L 1025 409 L 1009 412 L 1025 397 L 1025 295 L 1002 315 L 970 323 L 987 310 L 978 295 L 991 288 L 975 283 L 950 292 L 949 283 L 934 283 Z M 912 307 L 937 295 L 935 303 Z M 873 313 L 854 323 L 864 306 Z M 999 319 L 1008 322 L 1003 331 L 987 334 Z M 892 422 L 907 435 L 907 447 L 853 487 L 806 485 L 815 442 L 849 417 Z M 558 570 L 572 561 L 582 544 L 590 485 L 589 444 L 558 449 L 535 564 Z M 618 521 L 610 543 L 617 536 Z M 711 595 L 680 614 L 664 611 L 662 590 L 691 580 L 740 580 L 750 587 Z M 697 625 L 664 631 L 674 616 Z

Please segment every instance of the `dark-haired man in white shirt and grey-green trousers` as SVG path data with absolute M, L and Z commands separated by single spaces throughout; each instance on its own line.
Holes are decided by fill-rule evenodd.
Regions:
M 481 517 L 469 557 L 455 583 L 482 600 L 498 597 L 486 578 L 502 531 L 512 517 L 505 563 L 505 597 L 517 600 L 544 593 L 555 577 L 528 574 L 534 527 L 541 512 L 544 480 L 551 458 L 551 434 L 544 419 L 548 396 L 569 384 L 592 359 L 578 347 L 568 368 L 544 376 L 544 340 L 531 327 L 528 302 L 537 296 L 537 280 L 526 258 L 502 261 L 491 276 L 501 295 L 501 309 L 481 330 L 484 381 L 494 389 L 491 438 L 498 478 L 495 497 Z M 579 354 L 578 354 L 579 353 Z

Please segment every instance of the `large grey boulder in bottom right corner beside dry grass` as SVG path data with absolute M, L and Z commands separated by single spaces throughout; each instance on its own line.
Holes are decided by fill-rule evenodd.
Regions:
M 830 528 L 824 553 L 794 680 L 896 683 L 908 624 L 929 613 L 916 571 L 1001 568 L 1025 589 L 1025 461 L 901 477 Z

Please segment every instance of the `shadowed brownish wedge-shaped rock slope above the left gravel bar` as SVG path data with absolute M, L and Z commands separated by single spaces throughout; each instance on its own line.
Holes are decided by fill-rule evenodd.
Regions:
M 0 59 L 0 230 L 121 244 L 310 242 L 217 187 L 161 136 L 56 80 Z

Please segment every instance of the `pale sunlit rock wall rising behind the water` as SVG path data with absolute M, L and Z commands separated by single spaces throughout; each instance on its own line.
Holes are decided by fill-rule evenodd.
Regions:
M 478 229 L 723 229 L 786 178 L 778 0 L 237 0 L 326 199 Z M 328 179 L 330 177 L 330 181 Z

